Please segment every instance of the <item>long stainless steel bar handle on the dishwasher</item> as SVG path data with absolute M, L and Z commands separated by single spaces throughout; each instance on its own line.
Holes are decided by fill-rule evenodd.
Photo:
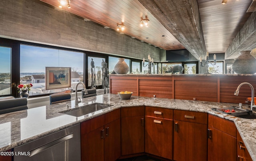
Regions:
M 55 146 L 55 145 L 57 145 L 57 144 L 59 144 L 59 143 L 62 143 L 62 142 L 64 142 L 64 141 L 67 141 L 67 140 L 69 140 L 69 139 L 71 139 L 71 138 L 73 138 L 73 137 L 74 137 L 74 135 L 73 135 L 73 133 L 71 133 L 71 134 L 66 135 L 66 136 L 64 136 L 64 137 L 61 137 L 61 138 L 59 138 L 59 139 L 56 139 L 56 140 L 54 140 L 54 141 L 52 141 L 52 142 L 50 142 L 50 143 L 47 143 L 47 144 L 45 144 L 45 145 L 42 145 L 42 146 L 40 146 L 40 147 L 38 147 L 38 148 L 36 148 L 36 149 L 34 149 L 34 150 L 31 150 L 29 157 L 32 157 L 33 155 L 36 155 L 36 154 L 38 154 L 38 153 L 41 153 L 42 151 L 45 151 L 46 149 L 49 149 L 50 147 L 53 147 L 53 146 Z

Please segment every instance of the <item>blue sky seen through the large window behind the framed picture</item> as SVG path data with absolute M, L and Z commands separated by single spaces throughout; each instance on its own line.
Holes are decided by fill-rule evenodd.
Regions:
M 83 53 L 20 45 L 20 73 L 45 72 L 45 67 L 72 67 L 83 72 L 83 61 Z

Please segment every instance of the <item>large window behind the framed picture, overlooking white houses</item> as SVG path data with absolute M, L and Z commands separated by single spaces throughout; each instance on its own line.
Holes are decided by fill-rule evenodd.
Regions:
M 20 84 L 34 83 L 29 92 L 30 95 L 60 92 L 69 89 L 45 90 L 45 67 L 71 67 L 70 88 L 74 89 L 77 81 L 83 81 L 84 53 L 20 45 Z

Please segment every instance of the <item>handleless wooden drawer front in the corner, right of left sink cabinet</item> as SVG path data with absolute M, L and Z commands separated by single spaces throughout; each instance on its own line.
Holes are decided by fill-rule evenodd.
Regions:
M 144 106 L 121 108 L 121 117 L 144 116 L 144 115 L 145 115 Z

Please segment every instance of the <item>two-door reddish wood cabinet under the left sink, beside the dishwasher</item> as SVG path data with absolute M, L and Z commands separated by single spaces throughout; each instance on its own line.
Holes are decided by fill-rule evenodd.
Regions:
M 81 160 L 114 161 L 120 157 L 120 109 L 81 123 Z

